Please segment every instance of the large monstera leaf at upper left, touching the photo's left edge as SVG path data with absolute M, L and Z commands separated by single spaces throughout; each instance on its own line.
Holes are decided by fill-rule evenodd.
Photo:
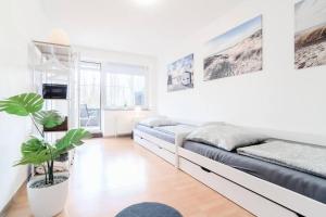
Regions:
M 37 93 L 23 93 L 0 101 L 0 112 L 8 114 L 27 116 L 40 111 L 43 106 L 43 99 Z

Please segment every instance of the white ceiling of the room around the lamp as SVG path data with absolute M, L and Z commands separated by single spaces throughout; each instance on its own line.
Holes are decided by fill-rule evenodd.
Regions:
M 42 0 L 73 44 L 155 55 L 243 0 Z M 147 0 L 148 1 L 148 0 Z

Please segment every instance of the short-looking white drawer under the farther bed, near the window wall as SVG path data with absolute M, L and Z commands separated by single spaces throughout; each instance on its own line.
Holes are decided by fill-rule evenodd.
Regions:
M 162 146 L 150 142 L 139 136 L 135 136 L 135 141 L 140 144 L 141 146 L 148 149 L 149 151 L 153 152 L 154 154 L 156 154 L 158 156 L 162 157 L 163 159 L 165 159 L 166 162 L 171 163 L 171 164 L 175 164 L 175 154 L 171 153 L 170 151 L 163 149 Z

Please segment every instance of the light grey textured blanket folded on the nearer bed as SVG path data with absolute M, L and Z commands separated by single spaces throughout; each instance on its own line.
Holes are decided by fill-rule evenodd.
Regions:
M 326 178 L 326 148 L 286 141 L 271 141 L 237 149 L 242 155 L 279 164 Z

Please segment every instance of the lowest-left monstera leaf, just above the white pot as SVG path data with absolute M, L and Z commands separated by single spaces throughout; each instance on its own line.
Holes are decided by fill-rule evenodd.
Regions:
M 51 153 L 53 154 L 54 150 L 46 141 L 32 137 L 22 144 L 21 152 L 23 156 L 14 166 L 26 164 L 40 165 L 51 161 Z

